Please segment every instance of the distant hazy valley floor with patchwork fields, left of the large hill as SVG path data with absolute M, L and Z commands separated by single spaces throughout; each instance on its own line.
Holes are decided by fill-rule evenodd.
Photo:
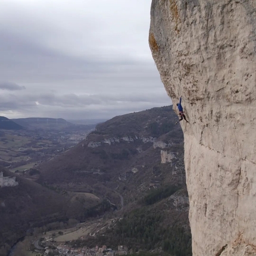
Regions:
M 95 124 L 1 130 L 0 166 L 24 174 L 86 138 Z

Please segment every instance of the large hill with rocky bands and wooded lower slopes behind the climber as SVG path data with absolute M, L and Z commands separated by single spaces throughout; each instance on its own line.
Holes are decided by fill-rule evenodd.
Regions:
M 39 183 L 93 193 L 117 205 L 113 226 L 89 237 L 85 245 L 125 243 L 146 250 L 164 246 L 170 254 L 191 255 L 183 133 L 176 121 L 172 106 L 117 116 L 98 124 L 74 148 L 39 166 Z M 90 217 L 102 214 L 92 211 Z M 113 214 L 104 216 L 114 218 Z M 130 232 L 129 227 L 138 230 L 141 218 L 145 229 Z

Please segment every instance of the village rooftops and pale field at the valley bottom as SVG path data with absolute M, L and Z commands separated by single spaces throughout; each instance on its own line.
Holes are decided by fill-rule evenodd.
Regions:
M 51 230 L 45 232 L 45 235 L 34 236 L 33 242 L 30 240 L 30 250 L 39 255 L 48 256 L 114 256 L 126 255 L 128 252 L 126 245 L 118 245 L 117 248 L 108 248 L 106 245 L 99 245 L 97 242 L 88 243 L 87 238 L 95 238 L 103 229 L 109 229 L 115 220 L 102 221 L 97 220 L 87 223 L 77 223 L 76 226 L 69 229 Z

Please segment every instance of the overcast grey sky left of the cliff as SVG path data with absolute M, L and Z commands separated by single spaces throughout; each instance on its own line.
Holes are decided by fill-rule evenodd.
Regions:
M 151 0 L 0 0 L 0 115 L 111 118 L 170 105 Z

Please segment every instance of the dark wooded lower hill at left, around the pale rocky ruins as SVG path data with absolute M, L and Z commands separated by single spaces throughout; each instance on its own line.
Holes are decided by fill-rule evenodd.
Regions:
M 57 193 L 30 182 L 0 167 L 4 177 L 15 177 L 18 185 L 1 188 L 0 183 L 0 255 L 7 255 L 11 246 L 36 227 L 49 229 L 49 223 L 76 218 L 82 220 L 89 202 L 73 200 L 66 193 Z M 1 177 L 1 175 L 0 175 Z M 1 180 L 0 180 L 1 182 Z M 94 205 L 94 204 L 92 204 Z

